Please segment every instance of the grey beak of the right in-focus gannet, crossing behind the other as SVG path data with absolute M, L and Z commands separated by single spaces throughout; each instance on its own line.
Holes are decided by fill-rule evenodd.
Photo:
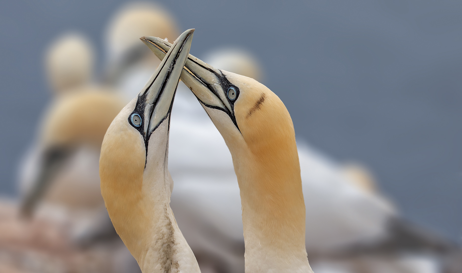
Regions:
M 144 36 L 141 40 L 159 59 L 163 59 L 172 46 L 169 42 L 152 36 Z M 232 103 L 237 97 L 231 100 L 226 95 L 229 88 L 237 89 L 237 87 L 231 84 L 219 69 L 189 54 L 180 78 L 204 107 L 219 109 L 227 113 L 237 127 Z

